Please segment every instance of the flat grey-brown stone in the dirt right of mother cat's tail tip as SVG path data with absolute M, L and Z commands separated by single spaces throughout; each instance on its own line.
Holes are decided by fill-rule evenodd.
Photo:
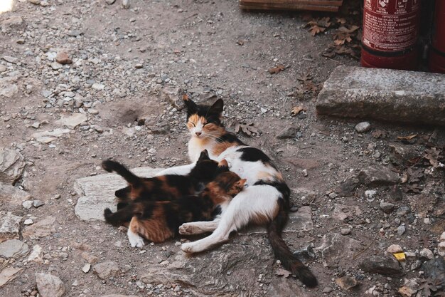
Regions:
M 324 235 L 321 246 L 315 248 L 316 251 L 321 251 L 323 262 L 328 267 L 354 266 L 353 256 L 360 249 L 360 241 L 342 236 L 339 233 Z

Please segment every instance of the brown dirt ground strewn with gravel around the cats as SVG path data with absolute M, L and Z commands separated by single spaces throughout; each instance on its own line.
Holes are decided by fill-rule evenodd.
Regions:
M 418 161 L 420 190 L 402 191 L 399 198 L 392 186 L 362 184 L 348 197 L 333 191 L 371 165 L 403 176 L 413 158 L 422 160 L 432 134 L 437 147 L 445 145 L 444 130 L 371 121 L 370 132 L 360 134 L 354 127 L 361 120 L 317 116 L 316 92 L 301 95 L 304 80 L 298 78 L 310 75 L 309 80 L 318 84 L 336 66 L 359 66 L 348 56 L 321 56 L 332 43 L 332 32 L 314 37 L 304 28 L 307 21 L 302 13 L 245 12 L 235 0 L 132 0 L 129 9 L 122 8 L 120 0 L 112 5 L 104 0 L 40 2 L 15 1 L 12 11 L 0 14 L 0 56 L 16 58 L 12 63 L 0 59 L 0 78 L 17 87 L 11 96 L 0 97 L 0 144 L 21 152 L 27 162 L 14 185 L 45 204 L 31 209 L 8 202 L 0 205 L 23 220 L 54 217 L 55 222 L 48 236 L 27 237 L 21 231 L 19 238 L 30 249 L 41 246 L 43 261 L 26 261 L 26 256 L 2 259 L 4 266 L 22 270 L 0 288 L 1 296 L 29 296 L 36 289 L 34 273 L 39 272 L 60 277 L 65 296 L 217 295 L 205 287 L 218 286 L 204 281 L 195 287 L 175 281 L 144 283 L 141 273 L 151 264 L 162 265 L 171 254 L 182 254 L 179 238 L 149 244 L 142 251 L 132 249 L 125 231 L 100 221 L 82 222 L 74 211 L 75 179 L 104 173 L 101 160 L 114 157 L 129 167 L 188 162 L 185 115 L 171 104 L 181 93 L 178 88 L 201 103 L 223 98 L 230 130 L 236 123 L 257 127 L 257 135 L 240 132 L 240 137 L 277 162 L 293 190 L 294 206 L 311 208 L 313 229 L 284 236 L 292 250 L 308 244 L 322 246 L 326 236 L 339 234 L 342 228 L 350 229 L 350 234 L 341 237 L 354 239 L 357 245 L 352 256 L 342 256 L 341 249 L 350 244 L 345 241 L 336 259 L 318 250 L 316 259 L 307 263 L 320 284 L 307 289 L 292 276 L 275 275 L 279 264 L 264 234 L 235 235 L 219 251 L 200 254 L 193 261 L 218 265 L 218 259 L 210 258 L 212 253 L 234 249 L 254 253 L 258 245 L 264 258 L 256 261 L 269 270 L 246 270 L 230 278 L 230 273 L 237 275 L 239 265 L 231 269 L 227 264 L 229 271 L 222 273 L 236 288 L 220 288 L 220 296 L 365 296 L 366 291 L 370 296 L 398 296 L 404 279 L 424 278 L 420 266 L 411 267 L 423 261 L 422 249 L 437 254 L 445 226 L 443 170 L 431 170 L 428 162 Z M 16 18 L 14 24 L 11 18 Z M 55 53 L 60 51 L 68 53 L 73 63 L 57 65 Z M 268 72 L 281 64 L 286 66 L 284 71 Z M 306 111 L 291 116 L 297 105 Z M 36 140 L 34 133 L 63 128 L 58 120 L 74 113 L 86 115 L 87 120 L 68 127 L 51 142 Z M 296 137 L 278 139 L 276 135 L 286 127 L 296 127 Z M 397 138 L 407 135 L 417 136 Z M 396 160 L 394 147 L 412 155 Z M 366 199 L 365 191 L 372 189 L 377 194 Z M 396 210 L 385 213 L 382 201 L 395 204 L 395 209 L 409 207 L 410 215 Z M 338 205 L 358 207 L 360 212 L 338 219 Z M 397 234 L 401 225 L 406 231 Z M 403 264 L 402 273 L 385 276 L 359 268 L 364 259 L 385 254 L 391 244 L 417 251 Z M 93 269 L 83 272 L 87 262 L 95 265 L 88 255 L 100 263 L 114 261 L 119 273 L 101 279 Z M 335 281 L 342 276 L 352 276 L 358 286 L 349 291 L 340 288 Z

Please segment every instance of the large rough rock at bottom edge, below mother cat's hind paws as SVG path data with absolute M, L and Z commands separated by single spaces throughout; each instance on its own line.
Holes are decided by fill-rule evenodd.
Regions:
M 246 292 L 249 296 L 262 295 L 264 292 L 259 291 L 261 288 L 257 277 L 252 277 L 252 271 L 256 276 L 271 276 L 274 256 L 268 245 L 250 238 L 239 240 L 239 243 L 231 241 L 205 255 L 188 256 L 180 252 L 168 259 L 171 263 L 167 266 L 150 264 L 139 278 L 154 286 L 181 283 L 191 291 L 191 296 L 243 296 Z M 292 278 L 289 282 L 298 283 Z M 294 292 L 296 296 L 305 296 L 299 295 L 299 291 Z M 280 295 L 274 291 L 267 296 Z

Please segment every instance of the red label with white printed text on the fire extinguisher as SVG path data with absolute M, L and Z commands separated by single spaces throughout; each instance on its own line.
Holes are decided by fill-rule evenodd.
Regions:
M 420 0 L 365 0 L 363 44 L 376 51 L 404 51 L 419 33 Z

